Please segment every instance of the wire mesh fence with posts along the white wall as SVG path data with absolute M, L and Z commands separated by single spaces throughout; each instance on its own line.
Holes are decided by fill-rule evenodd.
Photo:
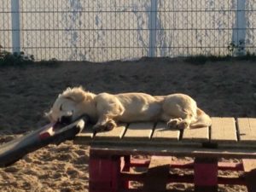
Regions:
M 254 53 L 256 0 L 0 0 L 0 44 L 36 60 Z

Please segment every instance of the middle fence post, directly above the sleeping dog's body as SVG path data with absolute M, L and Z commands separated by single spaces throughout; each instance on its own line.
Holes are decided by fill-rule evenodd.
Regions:
M 149 49 L 148 56 L 156 55 L 156 19 L 158 0 L 151 0 L 151 12 L 149 16 Z

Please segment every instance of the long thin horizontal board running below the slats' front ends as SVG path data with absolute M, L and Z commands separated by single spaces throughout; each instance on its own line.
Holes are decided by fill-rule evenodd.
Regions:
M 255 148 L 202 148 L 191 144 L 174 146 L 164 144 L 155 146 L 148 143 L 119 143 L 118 145 L 98 144 L 93 145 L 96 154 L 101 155 L 159 155 L 159 156 L 188 156 L 200 158 L 236 158 L 256 159 Z

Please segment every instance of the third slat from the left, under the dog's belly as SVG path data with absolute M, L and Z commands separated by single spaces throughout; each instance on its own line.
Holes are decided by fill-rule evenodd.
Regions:
M 140 123 L 132 123 L 128 126 L 124 140 L 148 140 L 151 137 L 152 131 L 154 128 L 154 123 L 150 122 L 140 122 Z

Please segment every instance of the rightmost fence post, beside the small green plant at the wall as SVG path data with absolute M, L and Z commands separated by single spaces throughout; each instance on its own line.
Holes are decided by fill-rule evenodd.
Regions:
M 246 0 L 237 0 L 236 22 L 233 29 L 232 42 L 234 43 L 235 54 L 245 54 L 245 37 L 246 37 Z

